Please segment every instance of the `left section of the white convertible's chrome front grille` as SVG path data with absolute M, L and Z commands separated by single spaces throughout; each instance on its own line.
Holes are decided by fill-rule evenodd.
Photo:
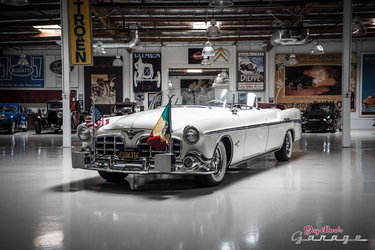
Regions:
M 98 155 L 118 156 L 119 149 L 124 148 L 125 143 L 121 135 L 98 136 L 95 147 Z

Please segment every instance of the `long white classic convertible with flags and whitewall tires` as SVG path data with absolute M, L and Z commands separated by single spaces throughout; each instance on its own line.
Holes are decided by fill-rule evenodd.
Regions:
M 128 174 L 194 174 L 204 186 L 216 186 L 227 167 L 274 152 L 288 161 L 301 138 L 299 109 L 261 104 L 253 93 L 227 89 L 171 89 L 159 92 L 149 110 L 111 117 L 107 125 L 77 128 L 83 147 L 72 153 L 73 168 L 97 170 L 106 180 Z M 171 98 L 171 136 L 164 150 L 147 143 Z

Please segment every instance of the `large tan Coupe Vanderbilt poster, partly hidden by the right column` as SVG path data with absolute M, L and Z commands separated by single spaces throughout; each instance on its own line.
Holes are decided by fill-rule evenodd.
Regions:
M 287 108 L 293 103 L 304 110 L 310 103 L 334 102 L 341 108 L 342 55 L 326 53 L 320 55 L 296 54 L 298 65 L 287 66 L 288 55 L 277 54 L 275 58 L 275 102 Z M 352 53 L 351 63 L 351 112 L 356 111 L 357 54 Z

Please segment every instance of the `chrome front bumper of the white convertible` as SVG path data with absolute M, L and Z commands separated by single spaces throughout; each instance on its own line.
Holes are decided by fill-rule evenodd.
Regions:
M 160 155 L 168 159 L 168 154 Z M 175 164 L 156 164 L 156 157 L 143 157 L 141 161 L 120 160 L 114 156 L 99 156 L 94 159 L 93 152 L 72 152 L 72 167 L 114 173 L 169 173 L 169 174 L 212 174 L 215 172 L 213 159 L 207 159 L 196 151 L 189 152 L 183 161 Z M 164 159 L 162 159 L 164 160 Z M 163 162 L 163 161 L 161 161 Z M 172 161 L 173 162 L 173 161 Z M 173 162 L 174 163 L 174 162 Z

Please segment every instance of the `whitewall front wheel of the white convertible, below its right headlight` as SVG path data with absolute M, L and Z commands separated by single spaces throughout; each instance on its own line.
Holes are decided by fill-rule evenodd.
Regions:
M 214 173 L 195 175 L 195 179 L 206 187 L 214 187 L 220 184 L 224 178 L 226 170 L 226 151 L 224 143 L 221 141 L 217 145 L 214 153 L 214 158 L 212 160 L 214 165 Z

